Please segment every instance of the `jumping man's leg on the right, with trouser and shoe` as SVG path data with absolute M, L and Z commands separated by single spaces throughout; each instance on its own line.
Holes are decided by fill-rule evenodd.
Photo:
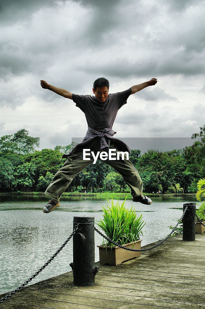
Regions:
M 114 147 L 114 145 L 110 145 L 110 149 L 113 149 Z M 118 150 L 116 150 L 116 152 L 117 151 Z M 142 204 L 146 205 L 150 205 L 152 203 L 150 198 L 143 196 L 142 180 L 139 176 L 137 169 L 129 160 L 123 160 L 120 155 L 119 160 L 106 160 L 105 162 L 121 174 L 126 184 L 131 188 L 131 195 L 133 201 L 141 202 Z

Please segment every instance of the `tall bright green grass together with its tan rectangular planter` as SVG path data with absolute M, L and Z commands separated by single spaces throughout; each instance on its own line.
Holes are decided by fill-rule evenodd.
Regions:
M 126 197 L 127 198 L 127 197 Z M 142 228 L 146 222 L 142 218 L 142 214 L 137 214 L 136 210 L 131 206 L 130 209 L 125 207 L 125 200 L 120 205 L 108 201 L 106 207 L 103 207 L 103 218 L 97 221 L 97 225 L 104 231 L 108 238 L 122 246 L 140 249 Z M 123 261 L 133 259 L 140 256 L 140 252 L 128 251 L 115 246 L 107 240 L 103 239 L 103 243 L 99 248 L 100 264 L 119 265 Z

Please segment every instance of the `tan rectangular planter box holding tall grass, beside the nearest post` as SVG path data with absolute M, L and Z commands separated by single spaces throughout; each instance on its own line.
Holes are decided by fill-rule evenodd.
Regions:
M 140 249 L 141 241 L 142 239 L 139 239 L 132 243 L 127 243 L 123 246 L 131 249 Z M 141 252 L 128 251 L 119 247 L 108 247 L 108 246 L 107 247 L 97 246 L 97 247 L 99 248 L 100 264 L 109 264 L 116 266 L 124 261 L 133 259 L 135 257 L 139 257 L 141 254 Z

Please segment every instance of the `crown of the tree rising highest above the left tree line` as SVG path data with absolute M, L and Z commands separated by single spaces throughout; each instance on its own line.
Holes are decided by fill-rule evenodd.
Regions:
M 39 147 L 40 138 L 29 136 L 27 130 L 21 129 L 14 133 L 12 142 L 17 145 L 17 152 L 19 155 L 27 155 L 28 153 L 35 151 L 35 147 Z

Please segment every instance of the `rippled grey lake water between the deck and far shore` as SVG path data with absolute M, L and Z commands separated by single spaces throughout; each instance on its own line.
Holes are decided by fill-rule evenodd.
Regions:
M 131 199 L 126 201 L 127 207 L 134 204 L 136 210 L 141 210 L 146 221 L 142 246 L 170 233 L 169 226 L 175 226 L 182 216 L 182 210 L 172 208 L 183 208 L 183 203 L 193 202 L 195 198 L 159 196 L 152 200 L 149 206 L 133 203 Z M 97 221 L 101 217 L 102 205 L 105 206 L 107 201 L 62 197 L 58 209 L 44 214 L 42 208 L 46 204 L 46 197 L 0 197 L 0 294 L 16 289 L 47 262 L 72 233 L 74 216 L 95 217 Z M 95 245 L 101 244 L 101 240 L 95 232 Z M 96 247 L 95 261 L 98 260 Z M 70 271 L 71 262 L 72 239 L 29 284 Z

